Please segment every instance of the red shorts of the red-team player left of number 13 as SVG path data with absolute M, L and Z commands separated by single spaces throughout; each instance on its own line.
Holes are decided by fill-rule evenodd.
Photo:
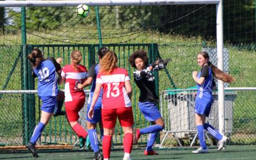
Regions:
M 79 119 L 79 111 L 84 106 L 85 99 L 73 100 L 71 102 L 65 102 L 65 108 L 67 113 L 68 122 L 75 122 Z

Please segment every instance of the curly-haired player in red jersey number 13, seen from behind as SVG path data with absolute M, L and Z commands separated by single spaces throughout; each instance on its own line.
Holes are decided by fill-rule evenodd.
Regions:
M 100 70 L 97 74 L 96 87 L 92 97 L 88 118 L 93 118 L 95 103 L 102 95 L 102 123 L 104 138 L 102 140 L 104 160 L 109 159 L 111 140 L 115 129 L 116 118 L 124 131 L 124 159 L 131 159 L 133 114 L 131 107 L 132 88 L 127 70 L 118 68 L 115 52 L 108 51 L 100 61 Z

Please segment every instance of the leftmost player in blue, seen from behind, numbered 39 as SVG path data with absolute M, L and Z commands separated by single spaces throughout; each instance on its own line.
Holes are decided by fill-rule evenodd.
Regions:
M 54 62 L 52 60 L 44 60 L 44 56 L 39 49 L 33 49 L 28 55 L 28 60 L 31 62 L 33 74 L 38 77 L 37 90 L 38 96 L 42 100 L 42 106 L 40 122 L 36 125 L 27 147 L 34 157 L 38 157 L 35 148 L 36 141 L 53 115 L 56 96 L 58 95 L 57 82 L 61 81 L 61 77 L 58 79 Z

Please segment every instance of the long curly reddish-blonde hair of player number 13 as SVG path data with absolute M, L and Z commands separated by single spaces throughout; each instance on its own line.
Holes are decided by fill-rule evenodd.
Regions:
M 114 51 L 106 52 L 105 56 L 100 61 L 100 71 L 103 74 L 109 75 L 116 67 L 117 56 Z

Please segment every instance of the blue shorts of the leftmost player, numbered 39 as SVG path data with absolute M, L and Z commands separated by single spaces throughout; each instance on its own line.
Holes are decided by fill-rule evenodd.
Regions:
M 57 102 L 56 97 L 41 96 L 40 99 L 42 99 L 43 102 L 41 110 L 47 113 L 53 113 Z

